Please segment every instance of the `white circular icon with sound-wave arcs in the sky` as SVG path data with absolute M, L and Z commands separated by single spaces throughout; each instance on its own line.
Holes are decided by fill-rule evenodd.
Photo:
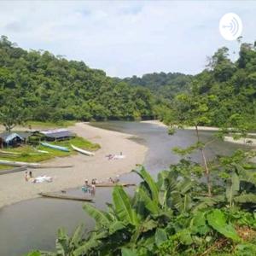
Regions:
M 219 20 L 219 32 L 224 37 L 224 39 L 233 41 L 241 36 L 242 23 L 238 15 L 229 13 L 225 14 Z

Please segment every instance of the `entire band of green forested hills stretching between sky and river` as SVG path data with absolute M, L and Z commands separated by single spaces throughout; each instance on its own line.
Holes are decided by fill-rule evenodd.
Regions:
M 227 48 L 218 49 L 206 69 L 195 76 L 148 73 L 142 78 L 118 79 L 91 69 L 83 61 L 67 61 L 44 50 L 26 51 L 5 36 L 0 39 L 2 116 L 13 114 L 19 118 L 14 114 L 19 112 L 26 119 L 41 121 L 165 120 L 180 104 L 180 95 L 189 96 L 192 101 L 211 99 L 204 102 L 209 108 L 207 125 L 223 125 L 232 117 L 255 122 L 255 45 L 241 44 L 235 62 L 230 61 Z M 183 107 L 184 112 L 193 111 Z

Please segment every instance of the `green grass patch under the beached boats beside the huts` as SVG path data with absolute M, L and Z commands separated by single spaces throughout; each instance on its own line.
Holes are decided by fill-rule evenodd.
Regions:
M 79 148 L 87 149 L 90 151 L 96 151 L 97 149 L 101 148 L 99 144 L 90 143 L 90 141 L 84 139 L 83 137 L 74 137 L 70 140 L 61 141 L 61 142 L 52 142 L 51 144 L 67 147 L 70 149 L 70 152 L 65 152 L 61 150 L 57 150 L 54 148 L 47 148 L 43 145 L 38 145 L 36 149 L 48 151 L 49 154 L 40 154 L 38 151 L 35 150 L 30 145 L 23 145 L 19 148 L 4 148 L 4 151 L 20 153 L 18 155 L 1 155 L 0 160 L 11 160 L 11 161 L 21 161 L 21 162 L 41 162 L 44 160 L 50 160 L 55 157 L 65 157 L 71 154 L 78 154 L 76 151 L 71 148 L 70 144 L 77 146 Z M 0 170 L 6 170 L 6 166 L 0 165 Z

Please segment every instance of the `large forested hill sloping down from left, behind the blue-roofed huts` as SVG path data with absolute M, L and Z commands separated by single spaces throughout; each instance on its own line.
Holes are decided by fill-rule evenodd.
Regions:
M 0 113 L 36 120 L 152 118 L 150 91 L 117 82 L 83 61 L 0 40 Z

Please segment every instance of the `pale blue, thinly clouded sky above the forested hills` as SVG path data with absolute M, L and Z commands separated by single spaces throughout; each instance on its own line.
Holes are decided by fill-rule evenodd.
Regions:
M 144 73 L 200 73 L 223 46 L 218 22 L 236 13 L 242 41 L 256 40 L 256 1 L 0 1 L 0 35 L 24 49 L 44 49 L 120 78 Z

